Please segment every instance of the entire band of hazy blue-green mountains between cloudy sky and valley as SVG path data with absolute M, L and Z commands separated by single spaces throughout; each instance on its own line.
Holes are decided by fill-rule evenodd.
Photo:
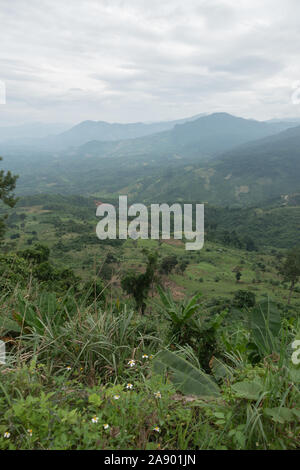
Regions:
M 300 191 L 297 124 L 226 113 L 156 124 L 85 121 L 32 147 L 2 143 L 0 152 L 21 175 L 19 194 L 249 205 Z

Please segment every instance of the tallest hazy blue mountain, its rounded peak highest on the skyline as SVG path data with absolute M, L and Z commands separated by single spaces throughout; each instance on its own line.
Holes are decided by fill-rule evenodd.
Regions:
M 254 139 L 276 134 L 279 124 L 253 121 L 215 113 L 194 121 L 177 124 L 173 129 L 148 137 L 120 142 L 88 142 L 79 147 L 82 156 L 126 156 L 149 154 L 157 158 L 165 154 L 182 157 L 208 157 L 225 152 Z

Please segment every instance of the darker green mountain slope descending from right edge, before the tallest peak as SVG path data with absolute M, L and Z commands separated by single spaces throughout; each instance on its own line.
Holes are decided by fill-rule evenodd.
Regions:
M 146 184 L 145 184 L 146 186 Z M 258 204 L 300 190 L 300 126 L 239 146 L 211 163 L 183 166 L 164 180 L 153 178 L 145 197 Z

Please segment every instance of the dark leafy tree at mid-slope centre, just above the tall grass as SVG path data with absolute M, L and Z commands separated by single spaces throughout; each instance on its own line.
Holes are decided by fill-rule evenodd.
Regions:
M 141 310 L 142 314 L 145 312 L 146 299 L 149 290 L 155 280 L 155 273 L 157 269 L 157 254 L 148 254 L 146 271 L 143 274 L 128 273 L 121 281 L 122 289 L 129 295 L 132 295 L 136 307 Z

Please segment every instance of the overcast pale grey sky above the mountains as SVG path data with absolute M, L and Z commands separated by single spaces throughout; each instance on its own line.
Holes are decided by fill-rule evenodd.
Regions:
M 300 116 L 299 0 L 0 0 L 0 25 L 0 125 Z

